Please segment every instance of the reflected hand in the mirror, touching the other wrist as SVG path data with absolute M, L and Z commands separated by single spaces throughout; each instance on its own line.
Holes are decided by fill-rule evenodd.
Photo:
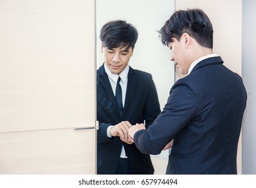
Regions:
M 120 139 L 123 142 L 129 143 L 131 142 L 128 137 L 128 130 L 132 127 L 132 124 L 130 122 L 120 122 L 119 124 L 116 124 L 116 126 L 113 126 L 110 128 L 110 135 L 111 136 L 119 136 Z

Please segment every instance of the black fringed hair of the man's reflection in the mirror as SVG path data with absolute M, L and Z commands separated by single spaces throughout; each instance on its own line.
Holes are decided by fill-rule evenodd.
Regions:
M 122 48 L 127 49 L 135 46 L 138 39 L 138 32 L 136 28 L 123 20 L 114 20 L 105 23 L 101 28 L 100 36 L 101 42 L 105 48 Z

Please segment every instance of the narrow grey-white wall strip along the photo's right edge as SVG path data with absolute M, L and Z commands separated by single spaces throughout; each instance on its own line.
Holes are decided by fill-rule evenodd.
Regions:
M 243 1 L 243 81 L 247 89 L 247 108 L 243 120 L 242 131 L 242 152 L 243 152 L 243 174 L 256 174 L 256 53 L 255 53 L 255 33 L 256 33 L 256 1 Z

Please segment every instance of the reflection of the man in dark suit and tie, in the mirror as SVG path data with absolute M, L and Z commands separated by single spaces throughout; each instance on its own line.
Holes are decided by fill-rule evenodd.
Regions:
M 132 124 L 150 126 L 160 113 L 152 76 L 128 66 L 138 38 L 126 21 L 105 23 L 101 52 L 105 62 L 97 70 L 97 174 L 153 174 L 148 154 L 128 138 Z

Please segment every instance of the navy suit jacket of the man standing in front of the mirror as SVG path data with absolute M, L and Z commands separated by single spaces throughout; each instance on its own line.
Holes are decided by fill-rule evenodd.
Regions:
M 167 174 L 236 174 L 247 93 L 219 56 L 199 62 L 171 88 L 162 113 L 134 142 L 158 154 L 173 139 Z

